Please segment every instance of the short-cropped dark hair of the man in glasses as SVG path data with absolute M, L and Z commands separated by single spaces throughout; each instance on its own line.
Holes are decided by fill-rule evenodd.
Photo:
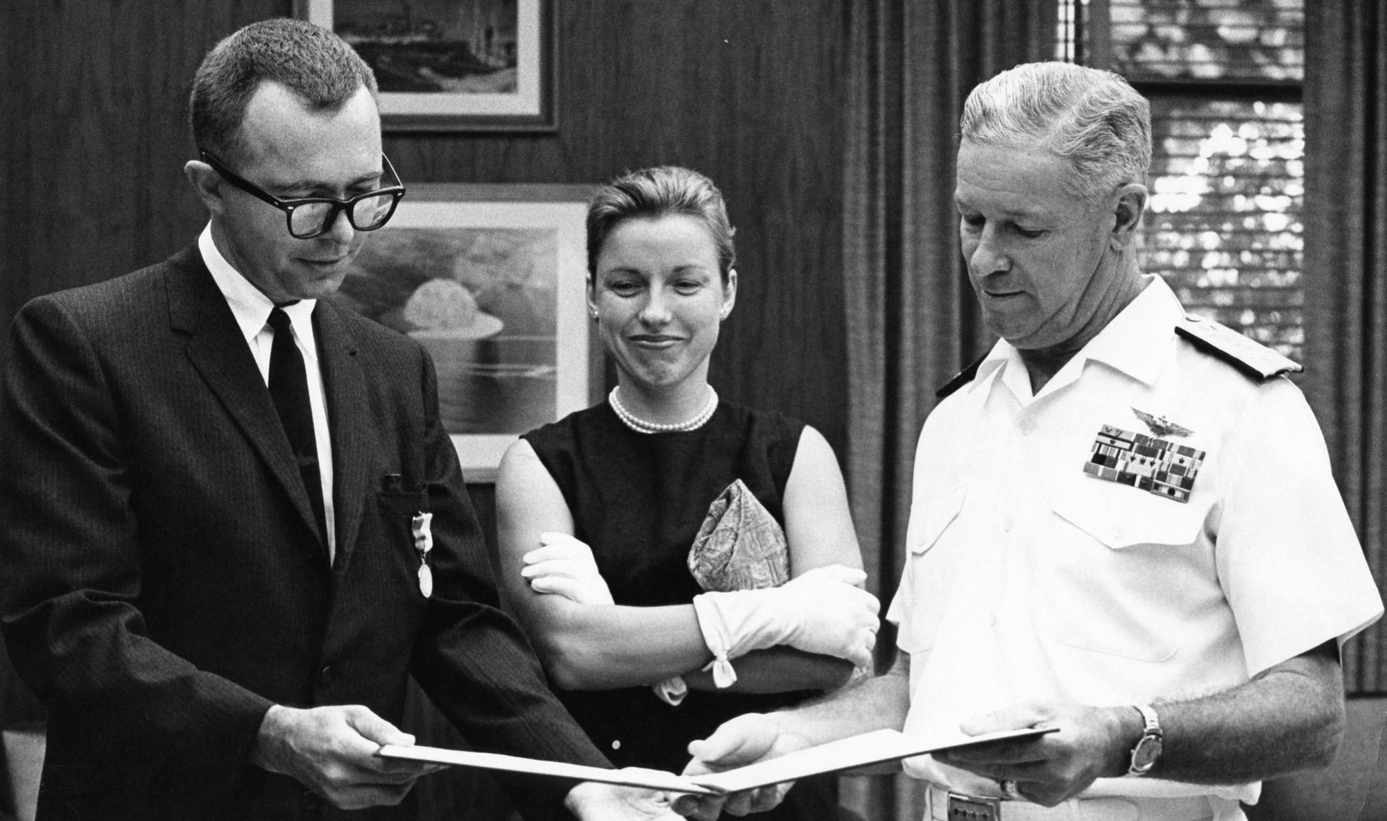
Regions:
M 189 122 L 197 147 L 232 162 L 245 105 L 265 80 L 294 92 L 311 111 L 337 111 L 376 75 L 341 37 L 301 19 L 252 22 L 218 43 L 193 75 Z

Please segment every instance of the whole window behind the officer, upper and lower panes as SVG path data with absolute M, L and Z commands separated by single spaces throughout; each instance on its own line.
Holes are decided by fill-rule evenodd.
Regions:
M 1061 0 L 1056 57 L 1151 101 L 1142 269 L 1300 359 L 1304 0 Z

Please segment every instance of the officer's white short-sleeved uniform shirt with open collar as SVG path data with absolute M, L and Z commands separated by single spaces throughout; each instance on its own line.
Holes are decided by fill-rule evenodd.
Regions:
M 956 732 L 1033 698 L 1198 696 L 1381 616 L 1300 390 L 1197 351 L 1175 334 L 1182 318 L 1153 277 L 1039 394 L 1000 341 L 925 422 L 886 616 L 910 653 L 906 732 Z M 1205 452 L 1187 502 L 1083 472 L 1104 424 L 1151 435 L 1133 408 Z M 1000 795 L 928 756 L 906 770 Z M 1085 796 L 1258 792 L 1112 778 Z

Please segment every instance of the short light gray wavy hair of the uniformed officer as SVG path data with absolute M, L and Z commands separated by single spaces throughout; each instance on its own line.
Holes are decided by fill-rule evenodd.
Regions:
M 979 85 L 963 107 L 964 140 L 1040 146 L 1074 165 L 1067 189 L 1094 200 L 1144 183 L 1151 166 L 1151 107 L 1111 71 L 1028 62 Z

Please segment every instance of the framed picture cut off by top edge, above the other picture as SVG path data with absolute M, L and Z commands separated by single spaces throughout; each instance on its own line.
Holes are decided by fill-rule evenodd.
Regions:
M 376 72 L 386 130 L 553 130 L 558 0 L 295 0 Z

